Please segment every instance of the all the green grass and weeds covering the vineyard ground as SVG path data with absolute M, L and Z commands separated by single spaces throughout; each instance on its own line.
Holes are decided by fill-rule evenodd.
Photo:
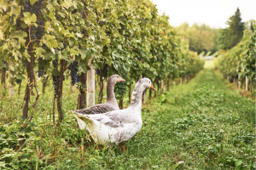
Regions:
M 2 169 L 254 169 L 255 105 L 230 90 L 212 63 L 189 84 L 172 86 L 143 106 L 143 128 L 119 149 L 100 147 L 68 114 L 77 94 L 65 86 L 65 120 L 51 122 L 52 91 L 40 96 L 36 116 L 22 130 L 22 98 L 0 103 Z M 54 135 L 54 134 L 57 135 Z M 19 149 L 18 134 L 26 145 Z

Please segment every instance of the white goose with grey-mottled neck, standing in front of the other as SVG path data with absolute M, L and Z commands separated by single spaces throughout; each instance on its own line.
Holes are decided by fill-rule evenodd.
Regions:
M 125 142 L 129 141 L 143 126 L 142 95 L 146 88 L 155 90 L 148 78 L 139 80 L 133 90 L 131 104 L 124 110 L 96 115 L 71 112 L 78 120 L 79 128 L 84 130 L 86 127 L 96 143 L 116 144 L 125 152 Z

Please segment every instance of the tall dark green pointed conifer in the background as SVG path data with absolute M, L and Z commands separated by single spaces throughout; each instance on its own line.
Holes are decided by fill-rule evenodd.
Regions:
M 230 49 L 236 46 L 241 41 L 244 23 L 241 22 L 241 13 L 239 8 L 236 13 L 227 21 L 228 28 L 220 32 L 219 44 L 222 49 Z

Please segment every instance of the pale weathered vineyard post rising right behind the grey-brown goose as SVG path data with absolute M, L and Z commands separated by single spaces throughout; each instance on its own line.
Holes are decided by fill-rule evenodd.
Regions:
M 95 105 L 95 70 L 91 65 L 91 58 L 89 59 L 88 66 L 90 70 L 87 71 L 87 107 Z

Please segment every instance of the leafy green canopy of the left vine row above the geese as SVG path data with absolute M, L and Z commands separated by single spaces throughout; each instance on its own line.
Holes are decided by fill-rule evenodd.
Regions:
M 195 76 L 202 68 L 196 54 L 188 48 L 180 50 L 183 44 L 176 41 L 168 16 L 158 14 L 148 0 L 3 1 L 0 16 L 0 59 L 22 68 L 32 62 L 30 71 L 38 72 L 38 77 L 51 76 L 58 108 L 60 75 L 80 76 L 87 71 L 90 58 L 96 69 L 105 68 L 105 77 L 117 73 L 128 80 L 117 85 L 118 99 L 124 96 L 127 83 L 138 76 L 166 80 L 171 74 Z M 75 68 L 73 62 L 78 63 Z M 75 80 L 79 78 L 73 84 L 79 82 Z

